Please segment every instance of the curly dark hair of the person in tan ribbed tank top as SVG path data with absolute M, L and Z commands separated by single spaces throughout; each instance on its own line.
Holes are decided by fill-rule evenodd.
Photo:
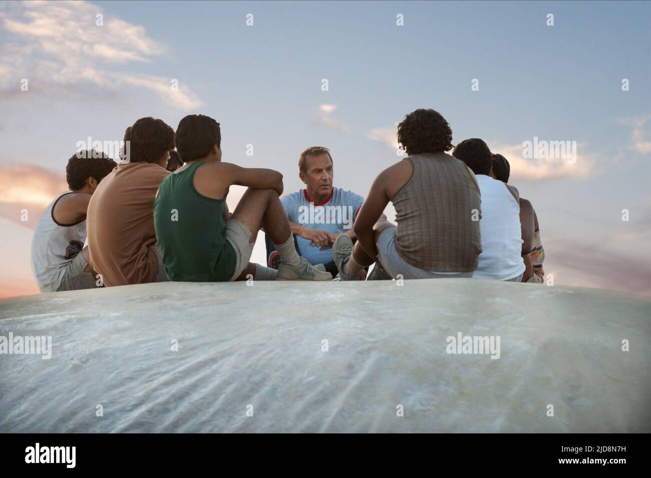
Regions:
M 398 124 L 398 143 L 407 154 L 435 153 L 452 149 L 452 130 L 441 113 L 417 109 Z

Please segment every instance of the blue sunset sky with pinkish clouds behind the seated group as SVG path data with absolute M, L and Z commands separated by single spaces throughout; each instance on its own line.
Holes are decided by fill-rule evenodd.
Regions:
M 286 193 L 319 145 L 367 195 L 420 107 L 510 161 L 555 285 L 651 295 L 650 2 L 98 1 L 0 3 L 0 296 L 38 292 L 33 229 L 79 141 L 201 113 Z M 534 138 L 576 147 L 526 158 Z

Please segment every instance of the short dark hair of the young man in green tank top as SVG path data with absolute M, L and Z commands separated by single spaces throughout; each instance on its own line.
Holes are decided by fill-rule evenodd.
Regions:
M 219 123 L 205 115 L 187 115 L 176 128 L 176 150 L 187 163 L 210 154 L 217 145 L 221 148 Z

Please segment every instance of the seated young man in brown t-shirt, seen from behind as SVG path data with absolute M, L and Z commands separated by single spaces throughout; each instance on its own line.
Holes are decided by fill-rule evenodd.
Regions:
M 154 197 L 174 148 L 163 120 L 141 118 L 127 128 L 130 156 L 104 178 L 88 206 L 90 266 L 104 285 L 167 281 L 154 230 Z

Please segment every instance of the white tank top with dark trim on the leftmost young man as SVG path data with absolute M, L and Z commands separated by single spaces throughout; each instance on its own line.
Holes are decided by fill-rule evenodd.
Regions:
M 74 224 L 58 224 L 52 217 L 52 208 L 61 196 L 74 191 L 65 191 L 48 204 L 43 211 L 32 239 L 32 272 L 41 292 L 55 292 L 66 264 L 81 252 L 86 242 L 86 219 Z

